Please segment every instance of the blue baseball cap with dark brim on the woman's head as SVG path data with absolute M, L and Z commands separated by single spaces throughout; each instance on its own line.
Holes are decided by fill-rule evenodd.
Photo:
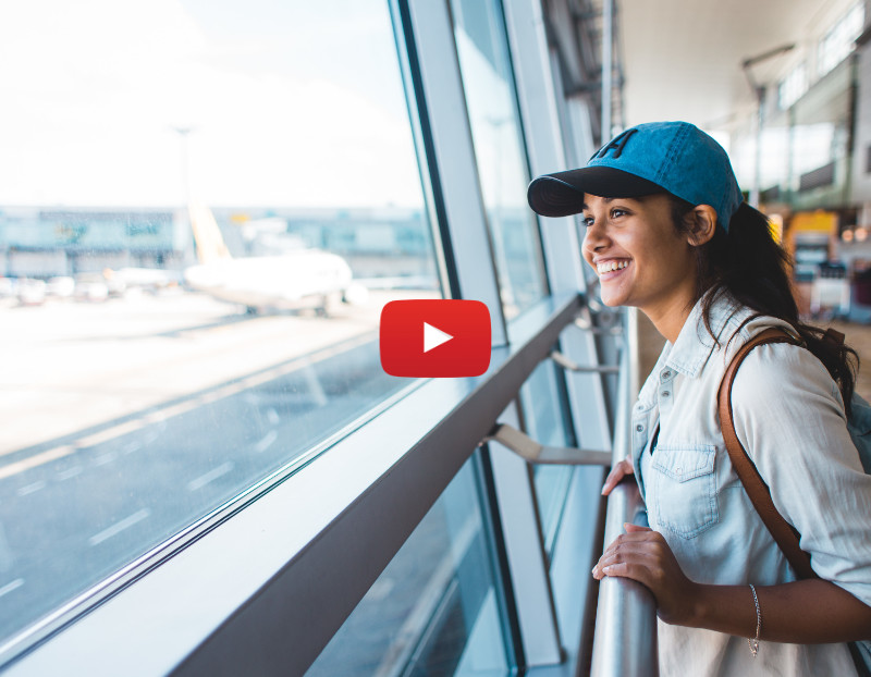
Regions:
M 688 122 L 629 127 L 596 151 L 587 167 L 532 181 L 527 199 L 542 217 L 567 217 L 582 210 L 585 193 L 642 197 L 663 192 L 710 205 L 726 230 L 744 201 L 726 151 Z

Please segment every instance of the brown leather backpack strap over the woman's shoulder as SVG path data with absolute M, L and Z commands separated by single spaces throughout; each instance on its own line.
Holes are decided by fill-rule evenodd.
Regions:
M 720 426 L 723 430 L 726 451 L 732 459 L 735 472 L 744 484 L 747 495 L 750 496 L 750 501 L 762 518 L 763 524 L 786 556 L 787 562 L 801 578 L 817 578 L 817 574 L 810 566 L 810 556 L 799 545 L 798 532 L 774 507 L 774 502 L 771 500 L 771 491 L 759 475 L 759 470 L 756 469 L 753 461 L 750 460 L 735 432 L 735 420 L 732 413 L 732 385 L 735 382 L 735 374 L 750 350 L 758 345 L 768 343 L 798 344 L 798 341 L 783 330 L 766 329 L 741 346 L 732 362 L 729 362 L 726 373 L 720 382 L 720 391 L 717 393 Z

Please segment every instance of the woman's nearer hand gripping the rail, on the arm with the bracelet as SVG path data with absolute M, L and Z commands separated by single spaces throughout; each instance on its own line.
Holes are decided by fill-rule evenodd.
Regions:
M 626 533 L 618 536 L 605 549 L 592 569 L 593 578 L 601 580 L 605 576 L 618 576 L 636 580 L 653 593 L 657 614 L 662 620 L 691 625 L 697 583 L 680 570 L 661 533 L 647 527 L 624 526 Z

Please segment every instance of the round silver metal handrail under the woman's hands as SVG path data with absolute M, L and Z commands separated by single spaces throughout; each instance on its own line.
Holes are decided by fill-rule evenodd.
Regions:
M 638 393 L 637 311 L 627 312 L 627 346 L 622 357 L 613 463 L 630 450 L 629 413 Z M 623 525 L 647 526 L 647 515 L 635 482 L 622 482 L 608 498 L 604 542 L 623 533 Z M 599 604 L 593 637 L 593 677 L 641 677 L 659 675 L 657 655 L 657 603 L 641 583 L 605 577 L 599 583 Z

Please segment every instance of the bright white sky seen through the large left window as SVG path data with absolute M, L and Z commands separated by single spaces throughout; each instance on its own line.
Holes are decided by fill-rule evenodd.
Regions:
M 387 4 L 0 0 L 0 207 L 420 206 Z

